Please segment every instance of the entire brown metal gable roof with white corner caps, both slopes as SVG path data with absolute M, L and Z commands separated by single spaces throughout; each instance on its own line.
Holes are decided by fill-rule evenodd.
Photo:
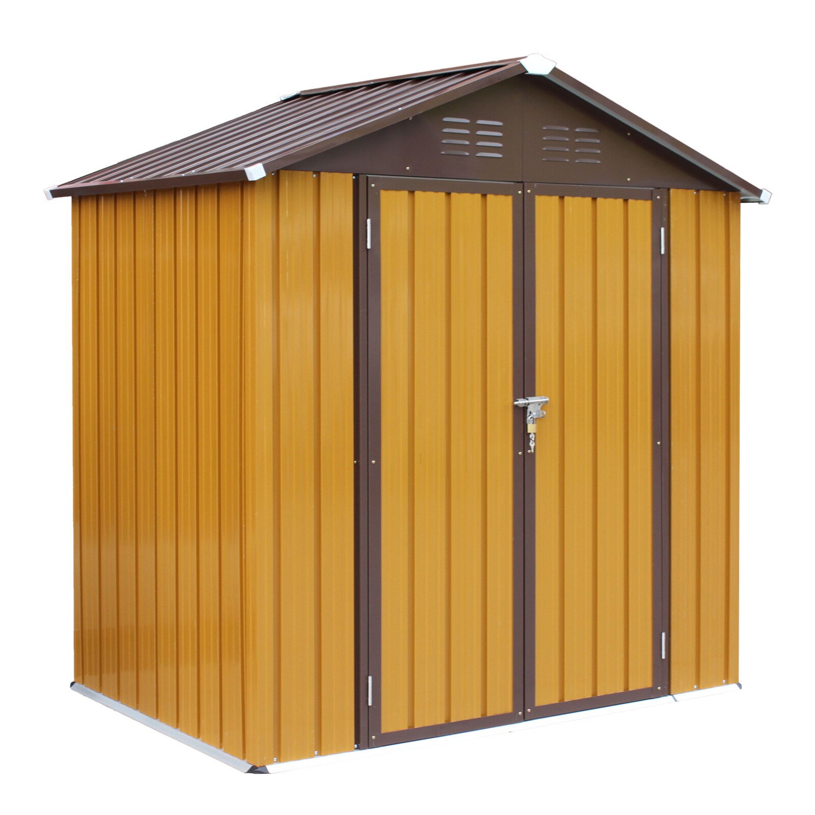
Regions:
M 72 182 L 48 187 L 46 197 L 257 180 L 297 161 L 523 73 L 545 77 L 546 81 L 554 82 L 625 126 L 653 139 L 684 161 L 719 178 L 728 188 L 737 189 L 742 201 L 769 203 L 770 193 L 766 190 L 754 187 L 598 94 L 540 54 L 302 90 L 245 117 Z M 218 166 L 218 156 L 223 156 L 222 166 Z

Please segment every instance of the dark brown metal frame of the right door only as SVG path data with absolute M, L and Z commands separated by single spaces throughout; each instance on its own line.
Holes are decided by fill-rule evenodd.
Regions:
M 651 292 L 652 292 L 652 385 L 653 385 L 653 669 L 652 686 L 616 694 L 591 696 L 547 705 L 535 704 L 535 458 L 524 456 L 526 487 L 526 558 L 524 569 L 524 718 L 538 719 L 595 707 L 637 702 L 668 694 L 668 557 L 670 535 L 670 372 L 668 334 L 667 190 L 650 187 L 586 187 L 569 184 L 526 183 L 524 185 L 524 393 L 535 394 L 535 195 L 652 201 Z M 662 635 L 666 651 L 663 659 Z

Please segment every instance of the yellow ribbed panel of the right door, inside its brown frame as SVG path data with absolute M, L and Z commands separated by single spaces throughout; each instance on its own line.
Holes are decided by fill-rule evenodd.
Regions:
M 535 197 L 535 703 L 651 684 L 651 203 Z

